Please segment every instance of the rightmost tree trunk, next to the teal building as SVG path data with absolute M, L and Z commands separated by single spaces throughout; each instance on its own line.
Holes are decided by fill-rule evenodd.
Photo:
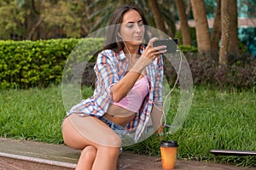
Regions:
M 237 37 L 237 2 L 236 0 L 229 0 L 229 2 L 230 43 L 228 51 L 230 54 L 237 54 L 239 51 L 239 41 Z

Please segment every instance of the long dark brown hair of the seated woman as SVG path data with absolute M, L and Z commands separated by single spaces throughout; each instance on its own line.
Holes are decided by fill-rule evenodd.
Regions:
M 109 20 L 107 38 L 103 49 L 113 49 L 114 52 L 119 52 L 120 50 L 125 48 L 125 43 L 122 41 L 121 37 L 119 37 L 118 32 L 120 30 L 120 25 L 122 23 L 124 14 L 131 9 L 136 10 L 141 15 L 143 19 L 143 25 L 148 25 L 148 22 L 145 19 L 143 10 L 141 8 L 129 4 L 125 4 L 124 6 L 116 8 L 111 14 Z M 149 36 L 147 27 L 145 27 L 144 39 L 145 42 L 148 43 Z

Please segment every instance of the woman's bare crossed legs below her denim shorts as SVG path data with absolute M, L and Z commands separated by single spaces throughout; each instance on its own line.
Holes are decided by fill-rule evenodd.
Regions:
M 75 119 L 79 119 L 79 121 L 82 119 L 83 124 L 79 121 L 74 121 L 76 122 L 74 124 L 73 120 Z M 83 132 L 93 132 L 81 133 L 76 128 L 79 126 L 83 126 L 81 129 Z M 95 129 L 96 131 L 94 131 Z M 74 149 L 82 150 L 77 170 L 102 169 L 102 167 L 106 170 L 116 169 L 121 140 L 112 129 L 96 117 L 81 117 L 75 114 L 68 116 L 62 124 L 62 134 L 65 144 Z M 97 141 L 98 139 L 101 141 Z M 103 143 L 101 143 L 102 141 Z

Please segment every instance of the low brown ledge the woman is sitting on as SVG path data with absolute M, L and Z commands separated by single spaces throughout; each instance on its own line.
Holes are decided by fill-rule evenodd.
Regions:
M 71 170 L 79 159 L 79 150 L 63 144 L 45 144 L 32 141 L 0 138 L 0 170 Z M 141 156 L 124 152 L 119 157 L 119 170 L 160 170 L 159 157 Z M 202 161 L 177 160 L 176 168 L 181 170 L 252 170 L 256 167 L 235 167 L 232 165 Z

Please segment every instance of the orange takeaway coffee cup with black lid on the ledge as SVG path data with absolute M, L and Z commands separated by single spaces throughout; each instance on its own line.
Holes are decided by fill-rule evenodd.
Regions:
M 162 168 L 164 170 L 174 169 L 177 156 L 177 142 L 176 141 L 161 141 L 160 154 L 162 161 Z

